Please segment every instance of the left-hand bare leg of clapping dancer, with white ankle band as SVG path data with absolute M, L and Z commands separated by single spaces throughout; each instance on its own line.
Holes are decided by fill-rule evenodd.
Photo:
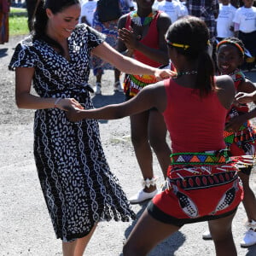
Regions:
M 137 157 L 138 165 L 143 174 L 143 178 L 151 179 L 153 173 L 153 157 L 151 147 L 148 142 L 148 111 L 131 115 L 131 142 Z M 145 188 L 145 192 L 152 192 L 155 186 Z

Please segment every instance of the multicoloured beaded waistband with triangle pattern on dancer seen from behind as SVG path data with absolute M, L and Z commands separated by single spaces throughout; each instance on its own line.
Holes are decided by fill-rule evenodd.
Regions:
M 227 150 L 171 154 L 172 165 L 219 165 L 230 161 Z

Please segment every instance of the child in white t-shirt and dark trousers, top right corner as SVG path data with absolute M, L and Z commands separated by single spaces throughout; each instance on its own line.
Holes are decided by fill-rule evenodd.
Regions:
M 255 66 L 256 56 L 256 7 L 253 0 L 243 0 L 244 6 L 236 10 L 234 18 L 235 37 L 241 39 L 251 56 L 247 57 L 247 69 Z

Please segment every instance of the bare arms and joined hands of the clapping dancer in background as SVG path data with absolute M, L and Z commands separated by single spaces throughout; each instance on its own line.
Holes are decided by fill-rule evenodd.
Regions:
M 160 62 L 161 64 L 167 64 L 168 54 L 167 45 L 165 40 L 165 34 L 168 27 L 171 25 L 171 20 L 168 15 L 161 13 L 159 19 L 157 20 L 157 29 L 159 32 L 159 49 L 152 49 L 140 42 L 140 37 L 138 36 L 137 30 L 141 27 L 133 25 L 130 30 L 125 28 L 126 16 L 124 15 L 119 20 L 119 52 L 124 52 L 125 49 L 129 49 L 131 52 L 136 49 L 146 55 L 149 59 Z M 148 27 L 145 26 L 142 32 L 142 38 L 148 32 Z

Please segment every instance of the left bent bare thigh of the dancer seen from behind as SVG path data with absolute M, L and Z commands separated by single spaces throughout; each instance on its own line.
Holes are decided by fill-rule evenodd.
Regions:
M 147 255 L 160 241 L 177 230 L 179 227 L 162 223 L 152 218 L 145 210 L 125 242 L 124 256 Z

